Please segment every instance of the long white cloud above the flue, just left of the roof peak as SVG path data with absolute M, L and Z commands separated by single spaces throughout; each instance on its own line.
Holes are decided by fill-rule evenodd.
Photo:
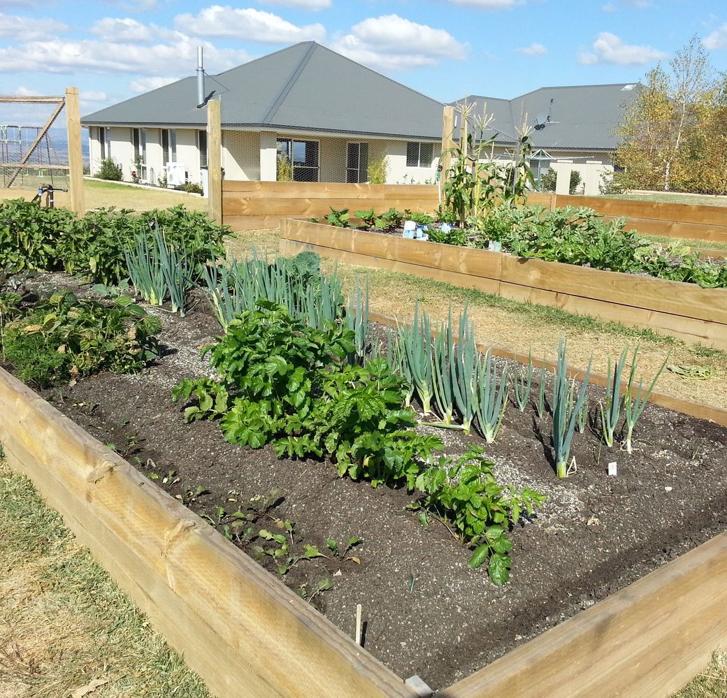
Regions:
M 230 36 L 273 44 L 322 41 L 326 36 L 326 28 L 322 24 L 299 27 L 271 12 L 229 5 L 212 5 L 200 10 L 197 15 L 177 15 L 174 25 L 195 36 Z

